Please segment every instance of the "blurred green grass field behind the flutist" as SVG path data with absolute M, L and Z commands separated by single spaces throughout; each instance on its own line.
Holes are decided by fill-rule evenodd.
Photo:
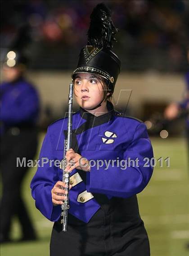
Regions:
M 41 136 L 41 140 L 43 136 Z M 138 195 L 140 215 L 148 231 L 151 256 L 188 256 L 189 242 L 189 170 L 187 169 L 186 142 L 180 138 L 152 138 L 156 159 L 170 157 L 160 167 L 157 162 L 148 186 Z M 29 184 L 36 168 L 31 168 L 24 185 L 23 195 L 35 223 L 37 242 L 11 243 L 1 246 L 1 256 L 48 256 L 53 223 L 35 208 Z M 19 238 L 20 230 L 15 219 L 12 238 Z M 68 245 L 70 246 L 70 245 Z

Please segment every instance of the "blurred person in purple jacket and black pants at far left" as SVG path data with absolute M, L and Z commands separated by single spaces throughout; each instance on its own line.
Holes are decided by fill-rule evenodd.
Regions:
M 36 121 L 40 102 L 35 87 L 25 73 L 28 59 L 23 53 L 9 51 L 3 64 L 4 82 L 0 85 L 1 181 L 0 242 L 10 242 L 10 228 L 14 216 L 22 228 L 21 241 L 36 240 L 36 231 L 22 197 L 22 182 L 27 165 L 37 149 Z

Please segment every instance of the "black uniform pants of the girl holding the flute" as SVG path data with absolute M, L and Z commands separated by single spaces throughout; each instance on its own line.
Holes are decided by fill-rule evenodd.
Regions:
M 68 214 L 67 232 L 62 231 L 60 220 L 54 223 L 50 256 L 150 256 L 148 235 L 140 216 L 115 217 L 112 211 L 102 208 L 89 223 Z

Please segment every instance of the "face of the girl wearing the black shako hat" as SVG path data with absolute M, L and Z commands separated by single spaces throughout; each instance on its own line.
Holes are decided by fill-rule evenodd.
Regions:
M 91 73 L 78 73 L 74 82 L 74 93 L 77 103 L 83 109 L 90 110 L 103 99 L 103 83 L 98 76 L 94 78 Z

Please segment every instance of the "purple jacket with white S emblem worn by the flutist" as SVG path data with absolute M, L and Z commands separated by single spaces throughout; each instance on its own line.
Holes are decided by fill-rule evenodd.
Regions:
M 72 116 L 72 148 L 88 160 L 94 160 L 90 172 L 74 169 L 70 174 L 75 185 L 69 192 L 69 213 L 85 223 L 101 207 L 102 198 L 109 201 L 112 197 L 124 200 L 134 196 L 146 187 L 153 172 L 153 167 L 145 166 L 145 158 L 153 157 L 145 124 L 115 111 L 109 102 L 107 106 L 108 113 L 98 117 L 82 108 Z M 46 161 L 63 159 L 66 136 L 67 117 L 48 127 L 40 151 L 41 164 L 43 157 Z M 135 160 L 135 164 L 126 169 L 121 169 L 116 162 L 129 159 Z M 102 160 L 98 168 L 94 165 L 97 160 Z M 61 207 L 53 206 L 51 189 L 59 180 L 62 181 L 62 169 L 48 163 L 38 167 L 31 181 L 36 208 L 54 222 L 60 218 Z M 120 211 L 128 211 L 126 208 L 122 205 Z

